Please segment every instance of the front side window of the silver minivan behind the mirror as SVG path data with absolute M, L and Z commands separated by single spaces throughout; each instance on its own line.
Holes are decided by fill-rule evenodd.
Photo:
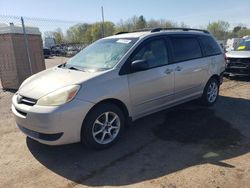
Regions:
M 146 60 L 150 68 L 159 67 L 168 64 L 168 53 L 165 41 L 156 39 L 147 42 L 132 57 L 131 61 Z

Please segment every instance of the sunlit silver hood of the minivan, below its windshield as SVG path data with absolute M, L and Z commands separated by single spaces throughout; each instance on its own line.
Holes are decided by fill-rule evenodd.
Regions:
M 99 74 L 102 74 L 102 72 L 51 68 L 26 79 L 19 88 L 18 93 L 28 98 L 39 99 L 65 86 L 81 84 Z

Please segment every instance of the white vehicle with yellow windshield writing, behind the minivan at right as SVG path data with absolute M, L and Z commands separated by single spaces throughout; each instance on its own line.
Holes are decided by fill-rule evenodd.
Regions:
M 245 39 L 226 53 L 226 71 L 229 76 L 250 76 L 250 39 Z

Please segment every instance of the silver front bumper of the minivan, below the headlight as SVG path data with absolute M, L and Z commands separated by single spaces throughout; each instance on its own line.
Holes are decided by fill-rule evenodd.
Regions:
M 28 106 L 12 98 L 17 127 L 28 137 L 48 145 L 79 142 L 81 127 L 93 103 L 74 99 L 62 106 Z

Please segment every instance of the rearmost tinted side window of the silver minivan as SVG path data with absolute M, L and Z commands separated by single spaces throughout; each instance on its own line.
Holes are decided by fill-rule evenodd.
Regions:
M 221 50 L 216 41 L 210 36 L 201 36 L 201 43 L 206 56 L 221 54 Z

